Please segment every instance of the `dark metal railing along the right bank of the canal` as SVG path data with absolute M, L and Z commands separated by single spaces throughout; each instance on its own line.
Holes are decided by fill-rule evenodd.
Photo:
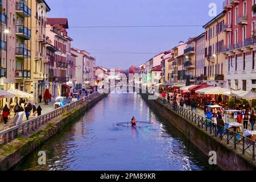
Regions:
M 185 109 L 179 105 L 174 105 L 164 98 L 159 97 L 158 101 L 165 105 L 168 109 L 171 109 L 175 113 L 181 115 L 181 117 L 184 117 L 185 119 L 188 119 L 188 121 L 195 123 L 201 129 L 205 129 L 205 131 L 208 131 L 213 135 L 213 137 L 216 137 L 216 139 L 218 137 L 218 129 L 223 129 L 224 133 L 219 136 L 219 139 L 224 141 L 227 145 L 231 145 L 234 149 L 241 151 L 241 154 L 249 155 L 251 160 L 255 161 L 256 142 L 254 140 L 244 137 L 243 135 L 227 129 L 224 126 L 218 125 L 217 123 L 214 123 L 214 121 L 202 117 L 201 115 L 196 114 L 191 110 Z

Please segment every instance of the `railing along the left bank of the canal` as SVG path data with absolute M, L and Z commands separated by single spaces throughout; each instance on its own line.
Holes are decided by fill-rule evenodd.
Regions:
M 69 110 L 73 110 L 78 106 L 82 106 L 88 101 L 89 98 L 96 96 L 98 92 L 90 94 L 89 96 L 83 97 L 76 102 L 71 102 L 63 107 L 59 107 L 52 110 L 49 113 L 40 115 L 39 117 L 30 119 L 26 122 L 20 123 L 19 125 L 10 127 L 7 130 L 0 131 L 0 144 L 6 144 L 14 140 L 18 135 L 29 137 L 32 133 L 39 131 L 40 127 L 46 126 L 49 121 L 59 117 L 62 114 L 67 113 Z

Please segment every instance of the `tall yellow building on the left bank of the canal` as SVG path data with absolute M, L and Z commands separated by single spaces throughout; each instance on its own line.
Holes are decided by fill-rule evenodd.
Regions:
M 31 62 L 27 62 L 25 67 L 30 68 L 30 78 L 24 82 L 24 91 L 34 95 L 34 102 L 38 102 L 38 97 L 46 89 L 47 66 L 46 56 L 46 13 L 50 11 L 44 0 L 31 1 L 31 17 L 28 22 L 31 24 Z

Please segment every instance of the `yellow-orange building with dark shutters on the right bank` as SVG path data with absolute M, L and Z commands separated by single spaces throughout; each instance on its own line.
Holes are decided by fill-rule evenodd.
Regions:
M 210 85 L 225 86 L 225 55 L 222 46 L 226 42 L 226 11 L 222 11 L 203 27 L 205 28 L 204 75 Z

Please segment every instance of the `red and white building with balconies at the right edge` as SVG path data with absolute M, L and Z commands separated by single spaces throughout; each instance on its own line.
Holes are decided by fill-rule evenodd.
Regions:
M 255 71 L 255 0 L 224 1 L 226 9 L 226 42 L 222 52 L 226 58 L 225 79 L 228 88 L 256 90 Z

